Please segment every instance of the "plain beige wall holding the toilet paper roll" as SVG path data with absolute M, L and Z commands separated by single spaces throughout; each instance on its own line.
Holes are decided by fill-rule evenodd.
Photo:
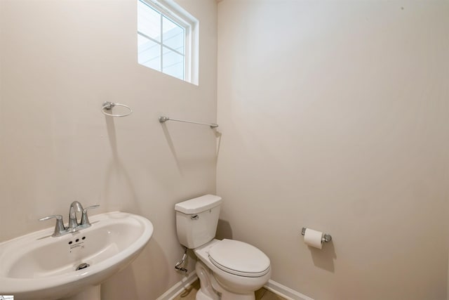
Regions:
M 233 237 L 316 300 L 446 299 L 448 1 L 226 0 L 218 32 Z

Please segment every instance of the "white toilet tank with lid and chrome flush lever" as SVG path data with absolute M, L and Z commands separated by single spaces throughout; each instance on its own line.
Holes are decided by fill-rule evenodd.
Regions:
M 217 231 L 222 198 L 203 195 L 175 204 L 177 239 L 195 249 L 213 240 Z

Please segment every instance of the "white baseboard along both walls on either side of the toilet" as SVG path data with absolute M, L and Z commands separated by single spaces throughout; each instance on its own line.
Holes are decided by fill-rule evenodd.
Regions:
M 193 271 L 186 278 L 183 278 L 175 285 L 173 285 L 173 287 L 170 287 L 167 292 L 163 293 L 156 300 L 173 300 L 177 295 L 181 294 L 186 287 L 192 285 L 192 283 L 194 283 L 197 279 L 198 276 L 196 276 L 196 272 Z M 266 285 L 264 285 L 264 288 L 287 300 L 314 300 L 309 296 L 301 294 L 300 292 L 296 292 L 295 290 L 290 289 L 290 287 L 281 285 L 280 283 L 271 279 L 268 280 Z

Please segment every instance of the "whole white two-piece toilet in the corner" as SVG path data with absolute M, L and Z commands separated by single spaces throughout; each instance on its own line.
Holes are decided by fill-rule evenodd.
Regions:
M 199 259 L 196 300 L 254 300 L 272 273 L 269 258 L 245 242 L 214 239 L 221 202 L 204 195 L 175 204 L 177 237 Z

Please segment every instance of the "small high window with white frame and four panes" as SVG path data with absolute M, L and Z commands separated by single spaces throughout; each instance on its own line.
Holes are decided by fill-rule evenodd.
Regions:
M 197 84 L 197 24 L 173 1 L 138 0 L 138 63 Z

